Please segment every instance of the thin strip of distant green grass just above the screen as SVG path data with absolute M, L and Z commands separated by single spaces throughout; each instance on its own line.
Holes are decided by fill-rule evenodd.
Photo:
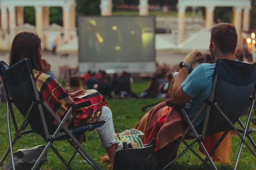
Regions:
M 113 11 L 112 15 L 139 15 L 139 11 Z M 156 15 L 158 17 L 177 17 L 177 11 L 169 11 L 168 13 L 163 13 L 162 11 L 149 11 L 149 15 Z M 191 17 L 192 12 L 187 11 L 186 17 Z M 195 14 L 198 17 L 198 13 Z

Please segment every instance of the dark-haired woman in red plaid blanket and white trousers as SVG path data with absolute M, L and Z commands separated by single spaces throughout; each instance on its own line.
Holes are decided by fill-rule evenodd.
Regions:
M 105 121 L 105 124 L 96 128 L 105 150 L 110 157 L 113 168 L 114 154 L 116 153 L 116 139 L 113 127 L 111 110 L 104 97 L 95 90 L 80 90 L 67 94 L 57 82 L 54 74 L 50 71 L 51 65 L 41 58 L 41 39 L 31 32 L 21 32 L 16 35 L 12 42 L 10 66 L 15 65 L 24 58 L 29 58 L 36 86 L 41 98 L 55 111 L 58 117 L 63 117 L 69 108 L 79 102 L 90 101 L 91 105 L 73 111 L 67 119 L 65 126 L 72 129 L 87 123 Z M 93 114 L 92 114 L 93 113 Z M 52 122 L 56 127 L 58 122 Z

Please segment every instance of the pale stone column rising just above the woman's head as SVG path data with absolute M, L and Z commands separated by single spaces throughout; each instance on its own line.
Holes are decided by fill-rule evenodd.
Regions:
M 43 32 L 43 7 L 36 6 L 35 7 L 35 26 L 36 26 L 36 33 L 40 38 L 42 38 L 42 48 L 44 45 L 44 32 Z

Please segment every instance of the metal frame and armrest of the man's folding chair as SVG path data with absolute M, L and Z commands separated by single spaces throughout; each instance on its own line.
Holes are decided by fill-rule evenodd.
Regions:
M 218 103 L 215 103 L 215 102 L 212 102 L 213 99 L 214 99 L 214 91 L 215 91 L 215 86 L 216 86 L 216 82 L 217 82 L 217 79 L 218 79 L 218 71 L 214 74 L 213 76 L 213 80 L 212 80 L 212 88 L 211 88 L 211 91 L 210 91 L 210 95 L 209 95 L 209 99 L 205 102 L 205 104 L 202 106 L 201 110 L 203 110 L 205 107 L 207 107 L 207 112 L 206 112 L 206 115 L 205 115 L 205 119 L 204 119 L 204 126 L 203 126 L 203 130 L 202 130 L 202 133 L 201 135 L 197 133 L 197 131 L 195 130 L 195 127 L 193 127 L 193 122 L 196 121 L 197 117 L 199 116 L 199 114 L 201 113 L 201 110 L 197 113 L 197 115 L 195 116 L 195 118 L 192 120 L 192 122 L 190 121 L 189 117 L 187 116 L 183 106 L 178 106 L 178 107 L 181 107 L 181 112 L 184 116 L 184 118 L 186 119 L 187 123 L 188 123 L 188 127 L 186 128 L 185 132 L 183 133 L 183 136 L 180 138 L 180 140 L 177 142 L 177 144 L 175 145 L 174 149 L 172 150 L 171 152 L 171 155 L 169 156 L 168 160 L 172 157 L 172 155 L 175 153 L 175 150 L 177 150 L 177 148 L 179 147 L 180 143 L 183 142 L 185 145 L 186 145 L 186 149 L 183 150 L 182 153 L 180 153 L 173 161 L 169 162 L 168 163 L 168 160 L 165 162 L 165 166 L 162 167 L 161 169 L 162 170 L 166 170 L 167 167 L 169 167 L 170 164 L 172 164 L 174 161 L 176 161 L 178 158 L 180 158 L 180 156 L 182 156 L 184 153 L 186 153 L 187 150 L 191 150 L 192 153 L 195 154 L 195 156 L 197 156 L 203 163 L 207 163 L 207 161 L 209 161 L 211 167 L 213 170 L 217 170 L 215 164 L 213 163 L 212 159 L 211 159 L 211 156 L 212 154 L 215 152 L 215 150 L 217 149 L 217 147 L 219 146 L 219 144 L 223 141 L 223 139 L 225 138 L 225 136 L 227 135 L 227 133 L 229 132 L 229 130 L 234 130 L 237 135 L 240 137 L 241 139 L 241 145 L 240 145 L 240 149 L 239 149 L 239 153 L 238 153 L 238 157 L 237 157 L 237 160 L 236 160 L 236 165 L 235 165 L 235 170 L 237 170 L 237 167 L 238 167 L 238 163 L 239 163 L 239 159 L 240 159 L 240 156 L 241 156 L 241 151 L 242 151 L 242 147 L 243 147 L 243 144 L 245 144 L 247 146 L 247 148 L 250 150 L 250 152 L 253 154 L 253 156 L 255 156 L 256 158 L 256 153 L 253 151 L 253 149 L 250 147 L 250 145 L 245 141 L 245 137 L 247 137 L 250 141 L 250 143 L 253 145 L 254 149 L 256 150 L 256 144 L 255 142 L 253 141 L 252 137 L 250 136 L 250 130 L 249 130 L 249 127 L 250 127 L 250 119 L 252 117 L 252 111 L 253 111 L 253 105 L 255 103 L 255 100 L 256 100 L 256 85 L 254 86 L 254 89 L 253 89 L 253 94 L 252 96 L 250 96 L 250 111 L 249 111 L 249 115 L 248 115 L 248 118 L 247 118 L 247 122 L 246 122 L 246 125 L 244 126 L 243 123 L 241 122 L 240 119 L 238 119 L 238 123 L 239 125 L 241 126 L 242 129 L 239 129 L 239 128 L 236 128 L 233 123 L 227 118 L 227 116 L 221 111 L 221 109 L 218 107 Z M 169 107 L 173 107 L 175 106 L 174 103 L 170 102 L 170 101 L 167 101 L 166 102 L 166 105 L 169 106 Z M 209 120 L 209 114 L 210 114 L 210 110 L 212 107 L 216 107 L 218 109 L 218 111 L 221 113 L 221 115 L 224 117 L 224 119 L 227 120 L 227 122 L 230 124 L 230 129 L 227 129 L 224 134 L 221 136 L 221 138 L 219 139 L 219 141 L 215 144 L 215 146 L 213 147 L 213 149 L 211 150 L 210 153 L 207 152 L 206 148 L 204 147 L 204 144 L 202 143 L 203 140 L 205 139 L 206 137 L 206 130 L 207 130 L 207 123 L 208 123 L 208 120 Z M 192 132 L 190 132 L 190 130 L 192 130 Z M 243 136 L 240 134 L 242 133 Z M 195 141 L 192 142 L 192 144 L 187 144 L 185 142 L 185 138 L 186 136 L 189 135 L 189 136 L 193 136 L 195 137 Z M 191 147 L 195 144 L 195 143 L 198 143 L 201 147 L 201 149 L 204 151 L 204 154 L 206 156 L 206 159 L 203 159 L 201 156 L 199 156 Z M 167 165 L 166 165 L 167 164 Z

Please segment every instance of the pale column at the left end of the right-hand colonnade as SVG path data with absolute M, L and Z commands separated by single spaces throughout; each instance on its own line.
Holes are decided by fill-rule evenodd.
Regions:
M 178 7 L 178 44 L 184 40 L 186 6 Z

